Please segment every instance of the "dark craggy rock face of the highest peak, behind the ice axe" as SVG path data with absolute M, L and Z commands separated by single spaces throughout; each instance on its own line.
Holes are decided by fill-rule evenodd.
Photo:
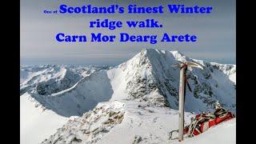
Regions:
M 175 58 L 174 58 L 175 57 Z M 126 90 L 130 98 L 140 99 L 158 106 L 170 106 L 178 108 L 178 82 L 179 70 L 171 67 L 172 64 L 180 60 L 194 61 L 182 54 L 170 54 L 169 52 L 159 52 L 158 50 L 142 51 L 138 55 L 140 61 L 134 64 L 134 75 L 127 82 Z M 183 58 L 183 59 L 182 59 Z M 188 70 L 187 78 L 192 88 L 192 93 L 186 91 L 187 97 L 194 97 L 205 103 L 208 109 L 214 109 L 214 102 L 220 101 L 223 106 L 233 107 L 232 104 L 226 104 L 220 97 L 226 97 L 222 94 L 229 94 L 227 91 L 218 92 L 222 87 L 219 86 L 219 80 L 227 81 L 227 85 L 234 86 L 228 78 L 230 74 L 235 73 L 233 65 L 222 65 L 217 63 L 202 62 L 204 70 Z M 142 74 L 142 71 L 145 74 Z M 220 79 L 222 78 L 222 79 Z M 227 92 L 227 93 L 226 93 Z M 155 98 L 146 97 L 147 94 L 157 93 Z M 234 94 L 231 92 L 230 94 Z M 230 95 L 228 97 L 235 97 Z M 232 102 L 231 102 L 232 103 Z M 232 106 L 231 106 L 232 105 Z

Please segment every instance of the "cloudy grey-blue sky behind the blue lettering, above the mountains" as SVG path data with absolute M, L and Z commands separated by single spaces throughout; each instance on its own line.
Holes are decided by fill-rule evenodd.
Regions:
M 132 58 L 145 48 L 160 50 L 179 50 L 191 58 L 207 61 L 235 64 L 236 55 L 236 18 L 234 0 L 195 0 L 195 1 L 118 1 L 121 6 L 137 4 L 138 6 L 165 6 L 167 4 L 185 4 L 186 6 L 213 6 L 211 14 L 43 14 L 43 10 L 58 10 L 61 3 L 70 6 L 109 6 L 106 1 L 56 1 L 56 0 L 22 0 L 21 1 L 21 64 L 85 64 L 85 65 L 118 65 Z M 113 19 L 125 22 L 154 18 L 162 23 L 161 29 L 129 29 L 126 26 L 118 30 L 91 29 L 91 20 Z M 85 42 L 58 43 L 55 35 L 86 34 L 196 34 L 197 42 L 177 42 L 151 45 L 134 42 Z

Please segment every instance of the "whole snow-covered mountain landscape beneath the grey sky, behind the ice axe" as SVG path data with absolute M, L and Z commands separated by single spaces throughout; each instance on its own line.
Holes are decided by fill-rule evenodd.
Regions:
M 172 65 L 183 61 L 198 62 L 204 68 L 188 70 L 192 93 L 186 91 L 186 112 L 212 111 L 218 101 L 235 113 L 235 65 L 148 49 L 113 68 L 22 66 L 21 140 L 167 143 L 170 130 L 178 128 L 179 70 Z M 28 122 L 31 114 L 37 116 Z M 187 123 L 193 115 L 186 113 Z M 54 123 L 55 117 L 59 121 Z M 40 138 L 30 141 L 30 134 L 40 133 L 37 126 L 49 133 L 41 132 Z

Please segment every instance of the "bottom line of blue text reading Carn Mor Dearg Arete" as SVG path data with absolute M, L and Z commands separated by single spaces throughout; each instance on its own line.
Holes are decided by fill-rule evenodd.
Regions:
M 167 34 L 164 33 L 158 39 L 158 35 L 134 35 L 127 33 L 120 33 L 117 38 L 116 35 L 106 34 L 90 34 L 90 42 L 150 42 L 150 44 L 156 44 L 158 40 L 160 42 L 196 42 L 197 36 L 190 34 Z M 116 40 L 118 39 L 118 40 Z M 56 34 L 56 40 L 58 42 L 88 42 L 86 35 L 70 35 L 59 33 Z

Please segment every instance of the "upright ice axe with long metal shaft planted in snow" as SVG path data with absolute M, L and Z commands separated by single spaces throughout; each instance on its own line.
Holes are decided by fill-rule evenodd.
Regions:
M 184 101 L 186 94 L 186 85 L 191 90 L 190 85 L 186 79 L 186 70 L 192 69 L 192 67 L 198 67 L 203 69 L 202 66 L 197 62 L 181 62 L 178 64 L 174 64 L 173 66 L 177 66 L 180 68 L 180 80 L 179 80 L 179 98 L 178 98 L 178 141 L 183 141 L 183 130 L 184 130 Z

